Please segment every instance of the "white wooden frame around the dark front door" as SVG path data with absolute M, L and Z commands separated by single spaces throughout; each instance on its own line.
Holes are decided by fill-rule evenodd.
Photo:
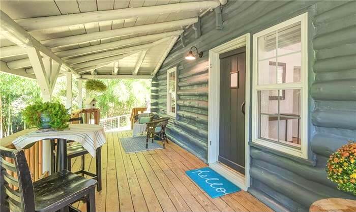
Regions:
M 250 33 L 209 50 L 209 122 L 207 162 L 209 166 L 243 190 L 250 186 Z M 246 46 L 245 66 L 245 177 L 218 162 L 219 157 L 219 116 L 220 116 L 220 58 L 219 55 Z

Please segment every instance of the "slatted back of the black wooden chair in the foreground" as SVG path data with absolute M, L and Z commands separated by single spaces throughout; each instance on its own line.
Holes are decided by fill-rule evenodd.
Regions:
M 0 200 L 3 211 L 35 211 L 34 187 L 23 150 L 0 146 Z M 12 159 L 10 162 L 5 158 Z M 9 174 L 8 171 L 13 172 Z M 10 186 L 11 185 L 11 186 Z M 15 188 L 16 187 L 16 188 Z

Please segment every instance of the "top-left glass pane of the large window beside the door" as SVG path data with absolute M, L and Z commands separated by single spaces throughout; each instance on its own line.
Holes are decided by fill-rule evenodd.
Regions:
M 258 38 L 258 60 L 276 56 L 276 32 Z

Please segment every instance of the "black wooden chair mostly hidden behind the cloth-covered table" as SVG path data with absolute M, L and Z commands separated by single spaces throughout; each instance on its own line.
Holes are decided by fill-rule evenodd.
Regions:
M 83 117 L 78 117 L 78 118 L 71 118 L 69 119 L 69 122 L 80 122 L 80 124 L 83 124 Z M 88 172 L 84 170 L 85 167 L 85 155 L 89 154 L 88 151 L 79 143 L 75 141 L 67 141 L 69 145 L 67 146 L 67 159 L 68 159 L 68 170 L 71 171 L 72 167 L 72 158 L 76 158 L 81 156 L 81 169 L 79 171 L 76 171 L 74 173 L 76 174 L 81 174 L 84 176 L 84 174 L 93 177 L 93 179 L 96 179 L 98 181 L 97 185 L 97 191 L 101 191 L 101 147 L 97 148 L 96 151 L 96 173 Z M 54 173 L 55 170 L 55 146 L 56 143 L 54 139 L 51 140 L 51 164 L 52 164 L 52 173 Z

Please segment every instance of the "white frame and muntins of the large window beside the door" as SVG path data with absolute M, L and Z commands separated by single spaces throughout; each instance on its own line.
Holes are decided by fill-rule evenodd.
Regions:
M 261 36 L 264 36 L 266 34 L 276 32 L 277 36 L 276 39 L 278 40 L 278 29 L 281 29 L 285 26 L 289 26 L 291 24 L 294 24 L 296 22 L 301 22 L 301 50 L 300 51 L 293 51 L 293 52 L 288 52 L 285 54 L 278 55 L 278 43 L 276 44 L 276 55 L 271 58 L 262 58 L 259 60 L 258 58 L 258 51 L 259 47 L 257 46 L 258 44 L 258 38 Z M 253 91 L 252 91 L 252 142 L 275 149 L 279 152 L 289 154 L 292 156 L 296 157 L 301 157 L 308 159 L 308 139 L 307 139 L 307 125 L 308 125 L 308 67 L 307 67 L 307 45 L 308 45 L 308 39 L 307 39 L 307 27 L 308 27 L 308 15 L 307 13 L 304 13 L 300 16 L 296 16 L 294 18 L 291 18 L 285 22 L 282 22 L 280 24 L 274 25 L 268 29 L 265 29 L 264 31 L 261 31 L 259 33 L 256 33 L 253 35 Z M 281 56 L 286 56 L 289 54 L 295 54 L 295 53 L 301 53 L 301 73 L 300 73 L 300 82 L 286 82 L 286 83 L 274 83 L 274 84 L 258 84 L 258 62 L 261 60 L 268 60 L 268 59 L 274 59 L 277 58 L 276 63 L 280 63 L 281 61 L 278 61 L 278 57 Z M 264 139 L 259 138 L 259 111 L 258 111 L 258 91 L 260 90 L 276 90 L 276 89 L 300 89 L 300 118 L 301 118 L 301 123 L 300 123 L 300 128 L 301 128 L 301 146 L 299 148 L 295 148 L 293 145 L 285 145 L 283 143 L 279 142 L 273 142 L 273 141 L 268 141 Z

